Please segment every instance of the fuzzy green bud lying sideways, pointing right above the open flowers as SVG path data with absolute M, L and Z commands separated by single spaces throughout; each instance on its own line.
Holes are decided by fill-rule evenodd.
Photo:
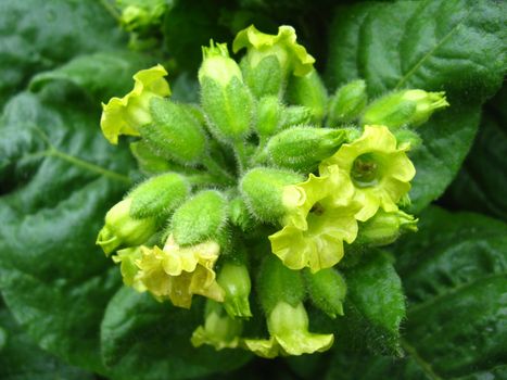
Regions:
M 293 127 L 274 136 L 267 152 L 277 166 L 310 173 L 320 161 L 331 156 L 345 138 L 346 134 L 340 129 Z

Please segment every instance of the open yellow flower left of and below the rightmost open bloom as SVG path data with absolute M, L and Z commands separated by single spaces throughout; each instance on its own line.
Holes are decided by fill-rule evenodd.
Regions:
M 343 241 L 352 243 L 357 236 L 353 193 L 335 165 L 326 176 L 310 174 L 305 182 L 287 186 L 283 203 L 290 212 L 284 227 L 269 237 L 272 253 L 291 269 L 309 267 L 313 273 L 340 262 Z

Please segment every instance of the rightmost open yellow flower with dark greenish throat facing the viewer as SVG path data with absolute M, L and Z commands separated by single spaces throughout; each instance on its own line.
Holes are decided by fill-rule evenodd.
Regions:
M 365 221 L 379 207 L 388 213 L 397 211 L 396 204 L 410 190 L 416 169 L 406 154 L 408 148 L 398 147 L 388 127 L 365 126 L 363 136 L 322 161 L 319 172 L 329 175 L 338 165 L 340 175 L 354 185 L 354 200 L 362 205 L 356 218 Z

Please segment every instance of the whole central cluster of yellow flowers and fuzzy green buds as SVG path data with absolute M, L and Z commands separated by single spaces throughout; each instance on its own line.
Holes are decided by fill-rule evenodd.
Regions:
M 448 104 L 410 89 L 369 103 L 363 80 L 329 96 L 290 26 L 251 26 L 232 47 L 246 50 L 239 63 L 225 43 L 203 48 L 200 104 L 173 101 L 161 65 L 103 104 L 105 138 L 129 136 L 147 179 L 107 212 L 97 243 L 126 286 L 185 308 L 207 299 L 195 346 L 326 351 L 334 337 L 309 332 L 307 301 L 343 315 L 343 258 L 417 230 L 413 127 Z M 258 319 L 264 332 L 250 328 Z

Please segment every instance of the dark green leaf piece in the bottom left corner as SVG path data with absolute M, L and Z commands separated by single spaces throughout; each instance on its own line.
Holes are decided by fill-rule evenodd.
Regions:
M 0 299 L 0 378 L 3 380 L 92 380 L 40 350 L 20 328 Z

